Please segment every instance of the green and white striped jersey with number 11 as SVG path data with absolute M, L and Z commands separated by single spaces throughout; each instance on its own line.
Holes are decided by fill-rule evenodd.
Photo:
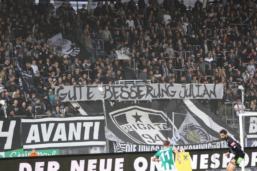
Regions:
M 175 159 L 174 159 L 174 147 L 167 147 L 159 150 L 154 157 L 161 159 L 162 170 L 172 170 L 175 169 Z

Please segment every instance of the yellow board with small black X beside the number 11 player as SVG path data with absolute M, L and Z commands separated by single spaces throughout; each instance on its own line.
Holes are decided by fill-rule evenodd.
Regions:
M 179 161 L 176 156 L 176 159 L 175 159 L 176 169 L 178 171 L 185 171 L 185 170 L 192 171 L 189 152 L 184 152 L 184 153 L 179 152 L 179 157 L 180 157 L 181 163 L 179 164 Z

